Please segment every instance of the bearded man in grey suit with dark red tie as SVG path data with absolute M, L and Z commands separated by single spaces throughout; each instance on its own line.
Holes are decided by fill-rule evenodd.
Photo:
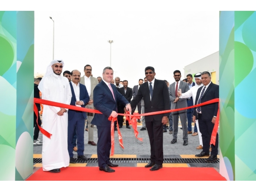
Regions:
M 187 83 L 181 81 L 181 71 L 175 70 L 174 71 L 174 79 L 175 82 L 172 83 L 169 87 L 169 95 L 170 95 L 170 102 L 171 102 L 171 109 L 180 109 L 187 107 L 187 99 L 180 99 L 177 96 L 177 92 L 180 90 L 181 93 L 186 93 L 189 90 L 189 86 Z M 179 123 L 179 116 L 181 119 L 182 131 L 183 131 L 183 145 L 188 144 L 187 138 L 187 109 L 181 110 L 177 112 L 172 112 L 173 118 L 173 140 L 171 144 L 177 142 L 177 133 L 178 133 L 178 123 Z

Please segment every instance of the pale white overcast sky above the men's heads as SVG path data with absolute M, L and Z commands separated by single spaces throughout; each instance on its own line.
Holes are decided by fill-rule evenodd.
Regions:
M 98 77 L 111 66 L 114 78 L 132 88 L 147 66 L 155 68 L 156 79 L 173 83 L 174 70 L 184 79 L 186 65 L 219 51 L 219 11 L 246 9 L 247 1 L 23 0 L 5 6 L 35 11 L 35 74 L 44 74 L 53 60 L 54 20 L 54 59 L 64 61 L 63 71 L 84 75 L 90 64 Z M 108 40 L 114 41 L 111 64 Z

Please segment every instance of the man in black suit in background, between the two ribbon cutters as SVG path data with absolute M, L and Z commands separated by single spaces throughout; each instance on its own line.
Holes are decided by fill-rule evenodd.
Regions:
M 122 94 L 122 96 L 125 97 L 125 99 L 127 99 L 128 102 L 131 102 L 131 98 L 132 98 L 132 90 L 130 87 L 128 87 L 128 80 L 123 80 L 123 87 L 119 88 L 119 93 Z M 124 113 L 124 108 L 125 106 L 119 102 L 118 104 L 118 113 Z M 122 127 L 123 125 L 123 115 L 118 115 L 118 125 L 119 128 Z M 126 128 L 130 129 L 131 127 L 129 126 L 128 121 L 126 121 Z

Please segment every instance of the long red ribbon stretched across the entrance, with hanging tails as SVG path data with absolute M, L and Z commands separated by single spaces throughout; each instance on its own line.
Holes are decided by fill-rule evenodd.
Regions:
M 95 109 L 87 109 L 87 108 L 83 108 L 83 107 L 71 106 L 71 105 L 67 105 L 67 104 L 63 104 L 63 103 L 59 103 L 59 102 L 48 101 L 48 100 L 44 100 L 44 99 L 34 98 L 34 102 L 41 103 L 41 104 L 48 105 L 48 106 L 56 106 L 56 107 L 60 107 L 60 108 L 72 109 L 72 110 L 76 110 L 76 111 L 84 111 L 84 112 L 91 112 L 91 113 L 102 114 L 101 112 L 99 112 L 98 110 L 95 110 Z M 176 111 L 181 111 L 181 110 L 185 110 L 185 109 L 195 108 L 195 107 L 198 107 L 198 106 L 208 105 L 208 104 L 211 104 L 211 103 L 214 103 L 214 102 L 219 102 L 219 99 L 212 99 L 212 100 L 207 101 L 207 102 L 202 102 L 200 104 L 197 104 L 197 105 L 194 105 L 194 106 L 190 106 L 190 107 L 181 108 L 181 109 L 171 109 L 171 110 L 166 110 L 166 111 L 150 112 L 150 113 L 144 113 L 144 114 L 138 114 L 138 113 L 134 113 L 133 115 L 126 114 L 126 118 L 127 118 L 127 116 L 131 116 L 132 117 L 130 122 L 131 122 L 132 127 L 134 128 L 135 137 L 138 138 L 138 130 L 137 130 L 136 119 L 138 119 L 138 117 L 140 118 L 140 116 L 158 115 L 158 114 L 162 114 L 162 113 L 176 112 Z M 38 114 L 38 110 L 37 110 L 37 108 L 35 109 L 35 107 L 34 107 L 34 112 L 36 114 Z M 118 115 L 124 115 L 124 114 L 118 113 Z M 220 115 L 219 115 L 219 109 L 218 109 L 217 118 L 216 118 L 216 122 L 215 122 L 215 125 L 214 125 L 214 128 L 213 128 L 213 132 L 212 132 L 212 136 L 211 136 L 211 141 L 210 141 L 210 143 L 214 144 L 214 145 L 215 145 L 215 142 L 216 142 L 216 135 L 217 135 L 217 131 L 218 131 L 218 125 L 219 125 L 219 119 L 220 119 L 219 116 Z M 108 120 L 112 121 L 112 118 L 108 119 Z M 116 118 L 113 121 L 117 121 Z M 112 124 L 111 124 L 111 130 L 112 130 Z M 118 123 L 117 123 L 117 127 L 118 127 L 119 144 L 121 145 L 122 148 L 124 148 L 124 146 L 122 144 L 122 137 L 121 137 L 121 132 L 119 130 Z M 136 128 L 136 130 L 135 130 L 135 128 Z M 42 134 L 44 134 L 48 138 L 50 138 L 50 136 L 52 135 L 52 134 L 48 133 L 46 130 L 44 130 L 41 127 L 39 127 L 39 130 L 42 132 Z M 114 124 L 113 124 L 113 133 L 114 133 Z M 138 139 L 140 140 L 140 138 L 138 138 Z M 120 141 L 121 141 L 121 143 L 120 143 Z M 114 153 L 114 151 L 113 151 L 113 153 Z

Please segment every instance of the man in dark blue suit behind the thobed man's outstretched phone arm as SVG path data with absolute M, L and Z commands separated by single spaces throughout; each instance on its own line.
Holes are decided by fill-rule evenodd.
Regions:
M 191 74 L 187 74 L 187 82 L 188 82 L 188 86 L 189 89 L 192 88 L 192 86 L 195 86 L 195 82 L 193 81 L 193 76 Z M 193 102 L 193 98 L 190 97 L 187 99 L 187 106 L 194 106 L 194 102 Z M 187 109 L 187 134 L 192 134 L 192 115 L 193 115 L 193 108 Z M 194 133 L 192 134 L 192 136 L 196 136 L 197 133 L 197 125 L 195 124 L 194 126 Z

